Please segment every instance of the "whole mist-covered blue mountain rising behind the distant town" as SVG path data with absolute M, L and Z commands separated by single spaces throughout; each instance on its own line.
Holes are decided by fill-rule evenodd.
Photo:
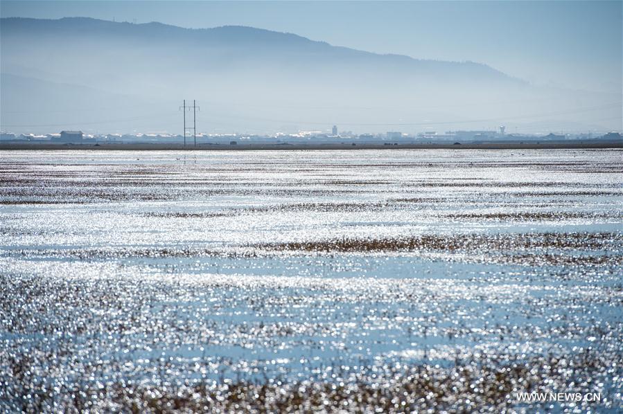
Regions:
M 201 132 L 621 129 L 620 94 L 243 26 L 7 18 L 0 46 L 1 128 L 15 132 L 181 133 L 184 98 Z

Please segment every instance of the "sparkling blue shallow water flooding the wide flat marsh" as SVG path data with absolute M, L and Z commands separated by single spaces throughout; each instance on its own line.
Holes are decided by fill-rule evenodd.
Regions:
M 4 152 L 0 177 L 9 409 L 512 364 L 621 407 L 620 151 Z M 525 387 L 406 407 L 534 408 Z

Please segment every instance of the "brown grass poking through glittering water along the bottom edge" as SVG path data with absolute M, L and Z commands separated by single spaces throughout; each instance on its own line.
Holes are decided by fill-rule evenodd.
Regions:
M 24 412 L 40 412 L 46 406 L 65 412 L 124 413 L 505 412 L 518 406 L 517 393 L 555 392 L 556 387 L 568 389 L 574 381 L 595 377 L 610 368 L 593 351 L 527 359 L 509 355 L 472 357 L 457 360 L 447 368 L 431 364 L 383 367 L 375 370 L 374 375 L 364 369 L 344 372 L 335 367 L 333 371 L 337 377 L 344 378 L 342 382 L 220 379 L 216 384 L 205 381 L 152 386 L 124 382 L 102 387 L 82 379 L 54 390 L 46 383 L 37 387 L 28 384 L 27 360 L 27 356 L 17 357 L 9 367 L 13 377 L 10 394 L 30 396 L 15 399 L 19 405 L 14 408 Z M 621 363 L 621 358 L 617 362 Z M 572 389 L 594 392 L 588 385 L 579 384 Z M 597 402 L 597 406 L 615 410 L 621 407 L 616 398 L 606 403 L 607 406 L 604 403 Z M 578 405 L 582 411 L 595 408 L 595 403 Z M 522 406 L 534 411 L 540 404 Z

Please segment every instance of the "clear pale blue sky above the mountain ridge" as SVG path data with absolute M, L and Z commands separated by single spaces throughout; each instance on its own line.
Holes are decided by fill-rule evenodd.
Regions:
M 244 25 L 337 46 L 473 60 L 572 89 L 621 91 L 622 1 L 0 1 L 2 17 Z

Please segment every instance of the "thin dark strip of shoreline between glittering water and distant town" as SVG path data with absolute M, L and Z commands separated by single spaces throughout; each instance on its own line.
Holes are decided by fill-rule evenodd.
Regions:
M 283 150 L 586 150 L 621 149 L 623 141 L 601 142 L 561 142 L 549 143 L 463 143 L 455 144 L 40 144 L 40 143 L 0 143 L 0 151 L 12 150 L 112 150 L 112 151 L 283 151 Z

